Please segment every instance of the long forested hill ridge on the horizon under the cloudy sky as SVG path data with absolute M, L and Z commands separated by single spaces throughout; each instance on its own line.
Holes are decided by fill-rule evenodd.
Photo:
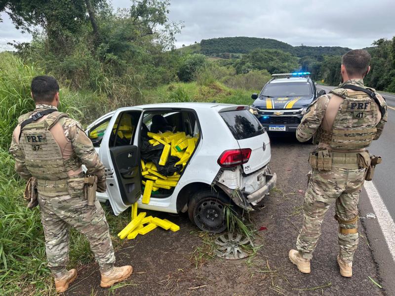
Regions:
M 280 49 L 298 57 L 342 55 L 350 50 L 350 48 L 340 46 L 292 46 L 276 39 L 256 37 L 221 37 L 203 39 L 200 43 L 185 46 L 179 50 L 183 53 L 202 53 L 207 56 L 221 56 L 224 53 L 245 54 L 255 48 Z

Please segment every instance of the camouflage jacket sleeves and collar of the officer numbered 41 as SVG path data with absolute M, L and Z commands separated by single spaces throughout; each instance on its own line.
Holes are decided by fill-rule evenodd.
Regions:
M 350 79 L 342 84 L 339 85 L 338 88 L 341 88 L 344 85 L 347 84 L 353 84 L 359 87 L 364 87 L 363 85 L 363 80 L 362 79 Z M 372 88 L 370 88 L 371 90 L 374 90 Z M 322 123 L 322 119 L 325 116 L 325 111 L 327 109 L 328 106 L 328 102 L 331 99 L 331 97 L 333 96 L 333 94 L 326 94 L 326 95 L 322 95 L 320 96 L 315 102 L 313 102 L 306 114 L 303 116 L 301 123 L 299 124 L 297 130 L 296 130 L 296 138 L 300 141 L 300 142 L 306 142 L 309 141 L 314 134 L 316 133 L 316 131 L 318 130 L 318 128 L 320 127 L 321 123 Z M 381 97 L 380 94 L 377 93 L 378 97 Z M 384 102 L 384 99 L 381 97 L 381 100 Z M 385 107 L 385 114 L 381 117 L 380 121 L 378 122 L 378 124 L 376 125 L 377 128 L 377 132 L 376 132 L 376 136 L 374 138 L 374 140 L 377 140 L 380 135 L 383 132 L 384 129 L 384 124 L 387 122 L 387 105 L 384 103 L 384 107 Z

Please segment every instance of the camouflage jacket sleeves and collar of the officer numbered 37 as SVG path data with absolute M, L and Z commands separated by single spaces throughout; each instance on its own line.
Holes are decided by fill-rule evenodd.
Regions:
M 38 104 L 36 105 L 36 109 L 30 113 L 30 116 L 46 109 L 57 110 L 56 107 L 51 105 Z M 86 174 L 96 175 L 98 177 L 98 181 L 104 181 L 106 179 L 104 166 L 99 159 L 99 155 L 93 147 L 92 142 L 83 131 L 81 124 L 77 120 L 68 117 L 60 118 L 59 124 L 62 126 L 67 141 L 71 143 L 73 153 L 75 153 L 81 162 L 86 166 Z M 12 142 L 9 152 L 15 158 L 15 171 L 22 178 L 28 180 L 30 177 L 32 177 L 32 175 L 26 168 L 25 155 L 19 146 L 19 133 L 20 125 L 18 124 L 12 134 Z

